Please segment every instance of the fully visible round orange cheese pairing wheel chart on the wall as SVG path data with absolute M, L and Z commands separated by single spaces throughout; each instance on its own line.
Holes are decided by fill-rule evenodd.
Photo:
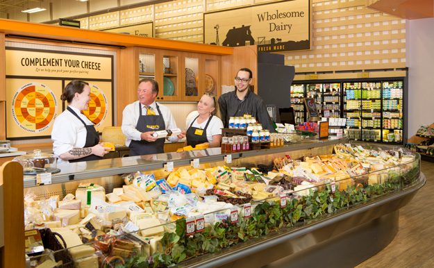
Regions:
M 27 83 L 15 92 L 12 116 L 24 130 L 38 133 L 49 128 L 56 117 L 57 101 L 47 85 Z

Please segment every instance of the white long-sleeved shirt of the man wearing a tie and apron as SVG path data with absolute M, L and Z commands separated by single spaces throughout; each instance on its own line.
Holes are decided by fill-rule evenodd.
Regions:
M 124 108 L 124 112 L 122 112 L 122 132 L 126 136 L 125 145 L 129 146 L 131 143 L 131 140 L 142 140 L 140 137 L 140 134 L 142 134 L 140 131 L 137 131 L 135 128 L 137 126 L 137 120 L 139 119 L 140 110 L 139 110 L 139 101 L 134 101 L 131 104 L 128 104 Z M 147 109 L 144 108 L 143 104 L 140 104 L 142 107 L 142 115 L 147 114 Z M 156 102 L 154 101 L 150 105 L 154 112 L 156 112 L 156 115 L 159 115 Z M 172 129 L 177 128 L 176 122 L 174 117 L 172 116 L 172 112 L 170 112 L 169 108 L 162 105 L 161 103 L 158 103 L 158 107 L 160 108 L 162 119 L 165 121 L 165 129 Z M 178 137 L 170 136 L 167 138 L 170 142 L 176 142 L 178 140 Z

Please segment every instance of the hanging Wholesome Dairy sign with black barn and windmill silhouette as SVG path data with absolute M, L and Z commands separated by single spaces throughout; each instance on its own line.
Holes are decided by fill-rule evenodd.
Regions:
M 310 0 L 208 12 L 203 24 L 205 44 L 227 47 L 257 44 L 260 52 L 310 49 Z

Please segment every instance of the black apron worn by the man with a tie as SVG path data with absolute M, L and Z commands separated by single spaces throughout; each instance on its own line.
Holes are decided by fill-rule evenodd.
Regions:
M 164 131 L 165 120 L 162 119 L 160 107 L 157 106 L 158 115 L 142 115 L 142 103 L 139 102 L 139 119 L 137 120 L 137 131 Z M 146 140 L 131 140 L 130 156 L 143 156 L 145 154 L 164 153 L 165 139 L 158 139 L 155 142 Z

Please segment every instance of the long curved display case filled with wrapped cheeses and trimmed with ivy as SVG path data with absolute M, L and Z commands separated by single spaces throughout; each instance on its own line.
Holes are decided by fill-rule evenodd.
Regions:
M 26 176 L 26 245 L 40 246 L 38 228 L 57 245 L 28 250 L 30 267 L 258 267 L 335 249 L 355 228 L 383 228 L 388 244 L 399 208 L 424 185 L 419 155 L 342 142 L 77 162 L 58 165 L 51 185 Z M 334 256 L 356 250 L 356 264 L 387 245 L 355 244 L 365 248 Z

